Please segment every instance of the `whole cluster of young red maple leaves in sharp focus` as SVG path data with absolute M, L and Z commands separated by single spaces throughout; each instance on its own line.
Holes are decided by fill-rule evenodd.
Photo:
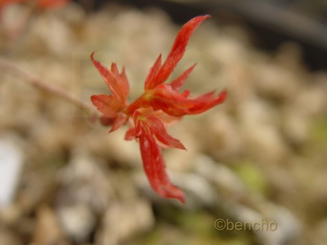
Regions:
M 216 96 L 212 91 L 197 97 L 191 97 L 189 90 L 179 92 L 195 64 L 171 83 L 165 82 L 182 58 L 193 32 L 208 17 L 197 16 L 184 24 L 166 61 L 161 64 L 159 55 L 145 80 L 145 92 L 131 104 L 127 101 L 129 85 L 125 69 L 119 72 L 115 63 L 108 69 L 94 59 L 94 52 L 91 54 L 92 62 L 111 91 L 110 95 L 91 96 L 92 103 L 103 113 L 102 122 L 112 125 L 109 133 L 129 122 L 125 139 L 138 138 L 144 170 L 151 187 L 161 197 L 175 198 L 181 203 L 185 202 L 184 193 L 171 183 L 161 148 L 186 149 L 178 139 L 168 134 L 166 126 L 184 115 L 200 114 L 223 103 L 227 92 L 224 90 Z

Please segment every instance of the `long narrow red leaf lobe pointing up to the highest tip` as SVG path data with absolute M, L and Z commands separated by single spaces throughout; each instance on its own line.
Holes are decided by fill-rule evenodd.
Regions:
M 183 57 L 186 45 L 189 42 L 193 32 L 199 26 L 199 24 L 210 17 L 209 15 L 197 16 L 189 20 L 182 26 L 181 30 L 176 36 L 175 42 L 172 46 L 172 49 L 160 69 L 156 72 L 156 75 L 151 75 L 151 79 L 147 81 L 146 90 L 153 89 L 157 85 L 164 83 L 169 75 L 173 72 L 175 66 Z

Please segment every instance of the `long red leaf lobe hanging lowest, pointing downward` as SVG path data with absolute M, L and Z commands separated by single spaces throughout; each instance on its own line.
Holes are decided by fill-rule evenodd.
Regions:
M 161 149 L 152 137 L 151 130 L 144 124 L 139 136 L 139 147 L 143 167 L 153 190 L 161 197 L 175 198 L 185 203 L 183 191 L 170 182 Z

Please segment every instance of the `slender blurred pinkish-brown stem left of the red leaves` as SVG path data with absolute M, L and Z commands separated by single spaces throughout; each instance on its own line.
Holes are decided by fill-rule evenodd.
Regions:
M 55 86 L 49 82 L 43 81 L 36 76 L 34 76 L 30 71 L 19 67 L 12 61 L 9 61 L 5 58 L 0 57 L 0 68 L 6 70 L 6 71 L 11 71 L 14 75 L 17 75 L 19 77 L 24 78 L 27 82 L 29 82 L 31 85 L 38 87 L 46 92 L 55 94 L 62 99 L 65 99 L 66 101 L 72 102 L 75 105 L 89 111 L 91 114 L 100 117 L 100 113 L 98 110 L 96 110 L 95 107 L 93 107 L 91 104 L 80 100 L 76 95 L 73 93 L 60 88 L 58 86 Z

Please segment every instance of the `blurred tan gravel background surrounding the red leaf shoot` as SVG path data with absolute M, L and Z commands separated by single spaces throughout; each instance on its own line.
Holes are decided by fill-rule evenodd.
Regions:
M 325 1 L 39 2 L 0 2 L 1 245 L 326 244 Z M 153 192 L 127 127 L 108 134 L 34 85 L 90 104 L 108 93 L 95 51 L 126 68 L 132 101 L 181 24 L 200 14 L 212 18 L 169 80 L 197 62 L 184 87 L 228 97 L 168 129 L 188 149 L 164 151 L 180 205 Z M 215 228 L 220 218 L 276 229 Z

